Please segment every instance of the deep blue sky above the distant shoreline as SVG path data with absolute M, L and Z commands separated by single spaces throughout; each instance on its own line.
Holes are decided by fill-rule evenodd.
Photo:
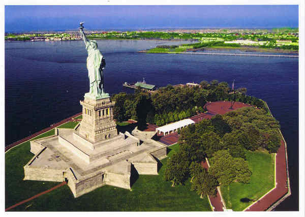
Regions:
M 5 32 L 76 29 L 298 27 L 297 5 L 5 6 Z

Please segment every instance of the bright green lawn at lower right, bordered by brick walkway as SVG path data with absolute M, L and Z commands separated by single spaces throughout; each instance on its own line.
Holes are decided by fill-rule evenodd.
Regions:
M 227 208 L 234 211 L 242 211 L 275 185 L 273 154 L 262 151 L 248 151 L 246 156 L 249 168 L 252 171 L 250 183 L 234 182 L 228 187 L 221 187 Z

